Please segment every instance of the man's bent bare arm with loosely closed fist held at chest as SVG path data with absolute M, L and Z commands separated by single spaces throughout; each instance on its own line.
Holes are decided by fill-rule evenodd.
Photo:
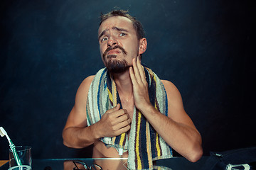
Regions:
M 108 110 L 99 122 L 87 126 L 86 103 L 87 94 L 94 76 L 87 77 L 75 96 L 75 106 L 68 116 L 63 129 L 63 144 L 67 147 L 83 148 L 92 145 L 100 137 L 113 137 L 127 132 L 132 120 L 120 105 Z

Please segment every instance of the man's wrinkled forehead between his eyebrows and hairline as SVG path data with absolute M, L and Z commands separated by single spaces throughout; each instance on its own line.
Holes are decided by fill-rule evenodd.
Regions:
M 110 30 L 114 27 L 124 28 L 126 30 L 129 30 L 130 32 L 136 33 L 132 21 L 129 18 L 126 18 L 124 16 L 111 16 L 110 18 L 107 18 L 107 20 L 102 22 L 98 30 L 98 35 L 100 35 L 103 30 Z

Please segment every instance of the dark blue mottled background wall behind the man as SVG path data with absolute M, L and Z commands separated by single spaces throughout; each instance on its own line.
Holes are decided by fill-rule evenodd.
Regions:
M 142 21 L 143 62 L 172 81 L 203 137 L 204 154 L 256 145 L 251 1 L 2 0 L 0 126 L 33 158 L 90 157 L 61 132 L 85 77 L 103 67 L 100 12 L 129 9 Z M 253 81 L 254 80 L 254 81 Z M 9 144 L 0 139 L 0 159 Z

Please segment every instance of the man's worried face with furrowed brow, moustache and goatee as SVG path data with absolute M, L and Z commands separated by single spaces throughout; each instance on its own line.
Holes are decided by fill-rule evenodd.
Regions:
M 110 72 L 124 72 L 139 55 L 139 40 L 129 18 L 112 16 L 103 21 L 98 38 L 102 61 Z

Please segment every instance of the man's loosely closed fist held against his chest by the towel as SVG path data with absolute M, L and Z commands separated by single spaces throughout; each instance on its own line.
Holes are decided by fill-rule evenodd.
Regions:
M 120 104 L 106 111 L 97 125 L 100 126 L 100 137 L 114 137 L 127 132 L 131 126 L 132 120 L 126 109 L 119 109 Z

